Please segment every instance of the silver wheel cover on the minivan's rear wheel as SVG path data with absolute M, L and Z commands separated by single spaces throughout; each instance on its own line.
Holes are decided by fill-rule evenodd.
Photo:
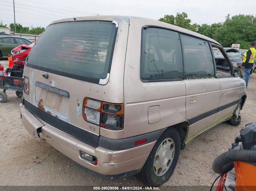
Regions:
M 153 170 L 156 176 L 163 176 L 170 168 L 175 155 L 173 139 L 166 138 L 158 147 L 155 154 Z

